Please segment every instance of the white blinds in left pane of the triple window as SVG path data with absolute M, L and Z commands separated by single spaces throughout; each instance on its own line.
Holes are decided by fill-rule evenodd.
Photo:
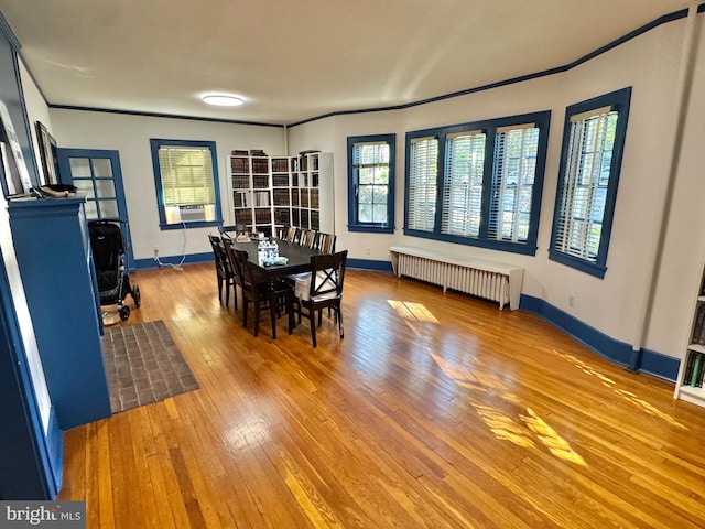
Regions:
M 438 174 L 438 139 L 411 141 L 409 155 L 406 227 L 433 231 L 436 215 L 436 177 Z

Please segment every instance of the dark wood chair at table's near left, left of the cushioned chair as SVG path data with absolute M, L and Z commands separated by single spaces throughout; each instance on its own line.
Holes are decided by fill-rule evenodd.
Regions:
M 247 251 L 232 249 L 237 261 L 238 271 L 242 281 L 242 326 L 247 327 L 248 304 L 251 302 L 254 309 L 254 336 L 260 331 L 260 312 L 269 310 L 272 323 L 272 338 L 276 338 L 276 317 L 281 314 L 280 300 L 285 300 L 289 312 L 289 326 L 293 320 L 291 309 L 291 290 L 283 283 L 270 285 L 264 273 L 248 260 Z M 272 290 L 274 289 L 274 290 Z

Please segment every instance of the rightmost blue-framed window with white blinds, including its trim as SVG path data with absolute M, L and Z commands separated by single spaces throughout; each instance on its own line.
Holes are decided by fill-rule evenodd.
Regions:
M 549 257 L 598 278 L 607 249 L 631 88 L 567 107 Z

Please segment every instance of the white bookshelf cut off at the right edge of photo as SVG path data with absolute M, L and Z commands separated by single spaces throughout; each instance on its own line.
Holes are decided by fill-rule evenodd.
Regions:
M 693 324 L 675 382 L 676 399 L 705 407 L 705 271 L 693 309 Z

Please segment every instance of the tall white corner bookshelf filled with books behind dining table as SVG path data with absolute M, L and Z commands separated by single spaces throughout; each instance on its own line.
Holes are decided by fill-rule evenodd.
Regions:
M 332 153 L 232 151 L 229 166 L 235 224 L 268 235 L 284 225 L 334 233 Z

